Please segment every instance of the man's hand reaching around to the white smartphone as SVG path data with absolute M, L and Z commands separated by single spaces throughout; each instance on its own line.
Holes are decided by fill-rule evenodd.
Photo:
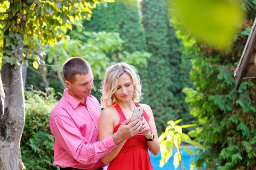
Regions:
M 112 135 L 113 141 L 115 144 L 126 140 L 128 138 L 136 135 L 142 127 L 143 117 L 140 115 L 135 116 L 134 118 L 126 119 L 118 128 L 117 132 Z

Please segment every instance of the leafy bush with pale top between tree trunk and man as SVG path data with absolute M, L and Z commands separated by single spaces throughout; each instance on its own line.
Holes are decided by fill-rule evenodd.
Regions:
M 57 104 L 55 97 L 52 88 L 42 92 L 30 87 L 25 91 L 26 121 L 20 150 L 26 170 L 59 169 L 52 164 L 54 137 L 49 127 L 50 114 Z

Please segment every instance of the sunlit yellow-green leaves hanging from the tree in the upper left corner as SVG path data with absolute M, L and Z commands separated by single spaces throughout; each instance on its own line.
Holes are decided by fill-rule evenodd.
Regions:
M 17 50 L 20 50 L 16 46 L 21 40 L 27 46 L 24 53 L 29 56 L 36 56 L 38 55 L 36 51 L 40 49 L 38 42 L 42 46 L 46 43 L 54 46 L 60 40 L 69 39 L 66 32 L 67 29 L 72 29 L 71 24 L 76 23 L 81 18 L 91 17 L 92 9 L 101 2 L 103 1 L 26 0 L 23 2 L 6 0 L 1 2 L 0 29 L 3 32 L 9 32 L 8 37 L 3 37 L 7 39 L 7 49 L 4 53 L 8 56 L 16 56 Z M 23 35 L 24 41 L 22 40 Z

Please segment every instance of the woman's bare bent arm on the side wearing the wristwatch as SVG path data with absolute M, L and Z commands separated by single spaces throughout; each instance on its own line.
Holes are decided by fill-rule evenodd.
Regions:
M 144 107 L 144 110 L 147 112 L 148 114 L 148 124 L 152 129 L 152 133 L 154 134 L 155 138 L 154 141 L 147 141 L 148 143 L 148 149 L 149 151 L 153 154 L 153 155 L 157 155 L 160 152 L 160 144 L 158 141 L 158 135 L 157 135 L 157 128 L 156 128 L 156 124 L 154 122 L 154 115 L 153 112 L 151 110 L 151 107 L 146 105 L 146 104 L 140 104 L 141 106 Z M 143 127 L 142 127 L 143 128 Z M 151 138 L 151 133 L 149 132 L 149 130 L 146 130 L 145 133 L 143 133 L 145 135 L 146 138 L 150 139 Z

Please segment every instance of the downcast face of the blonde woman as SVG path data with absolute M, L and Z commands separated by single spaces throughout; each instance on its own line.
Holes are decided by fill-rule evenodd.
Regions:
M 120 75 L 117 85 L 118 86 L 114 94 L 116 95 L 118 101 L 125 102 L 132 100 L 132 95 L 134 93 L 134 85 L 131 75 L 127 72 Z

